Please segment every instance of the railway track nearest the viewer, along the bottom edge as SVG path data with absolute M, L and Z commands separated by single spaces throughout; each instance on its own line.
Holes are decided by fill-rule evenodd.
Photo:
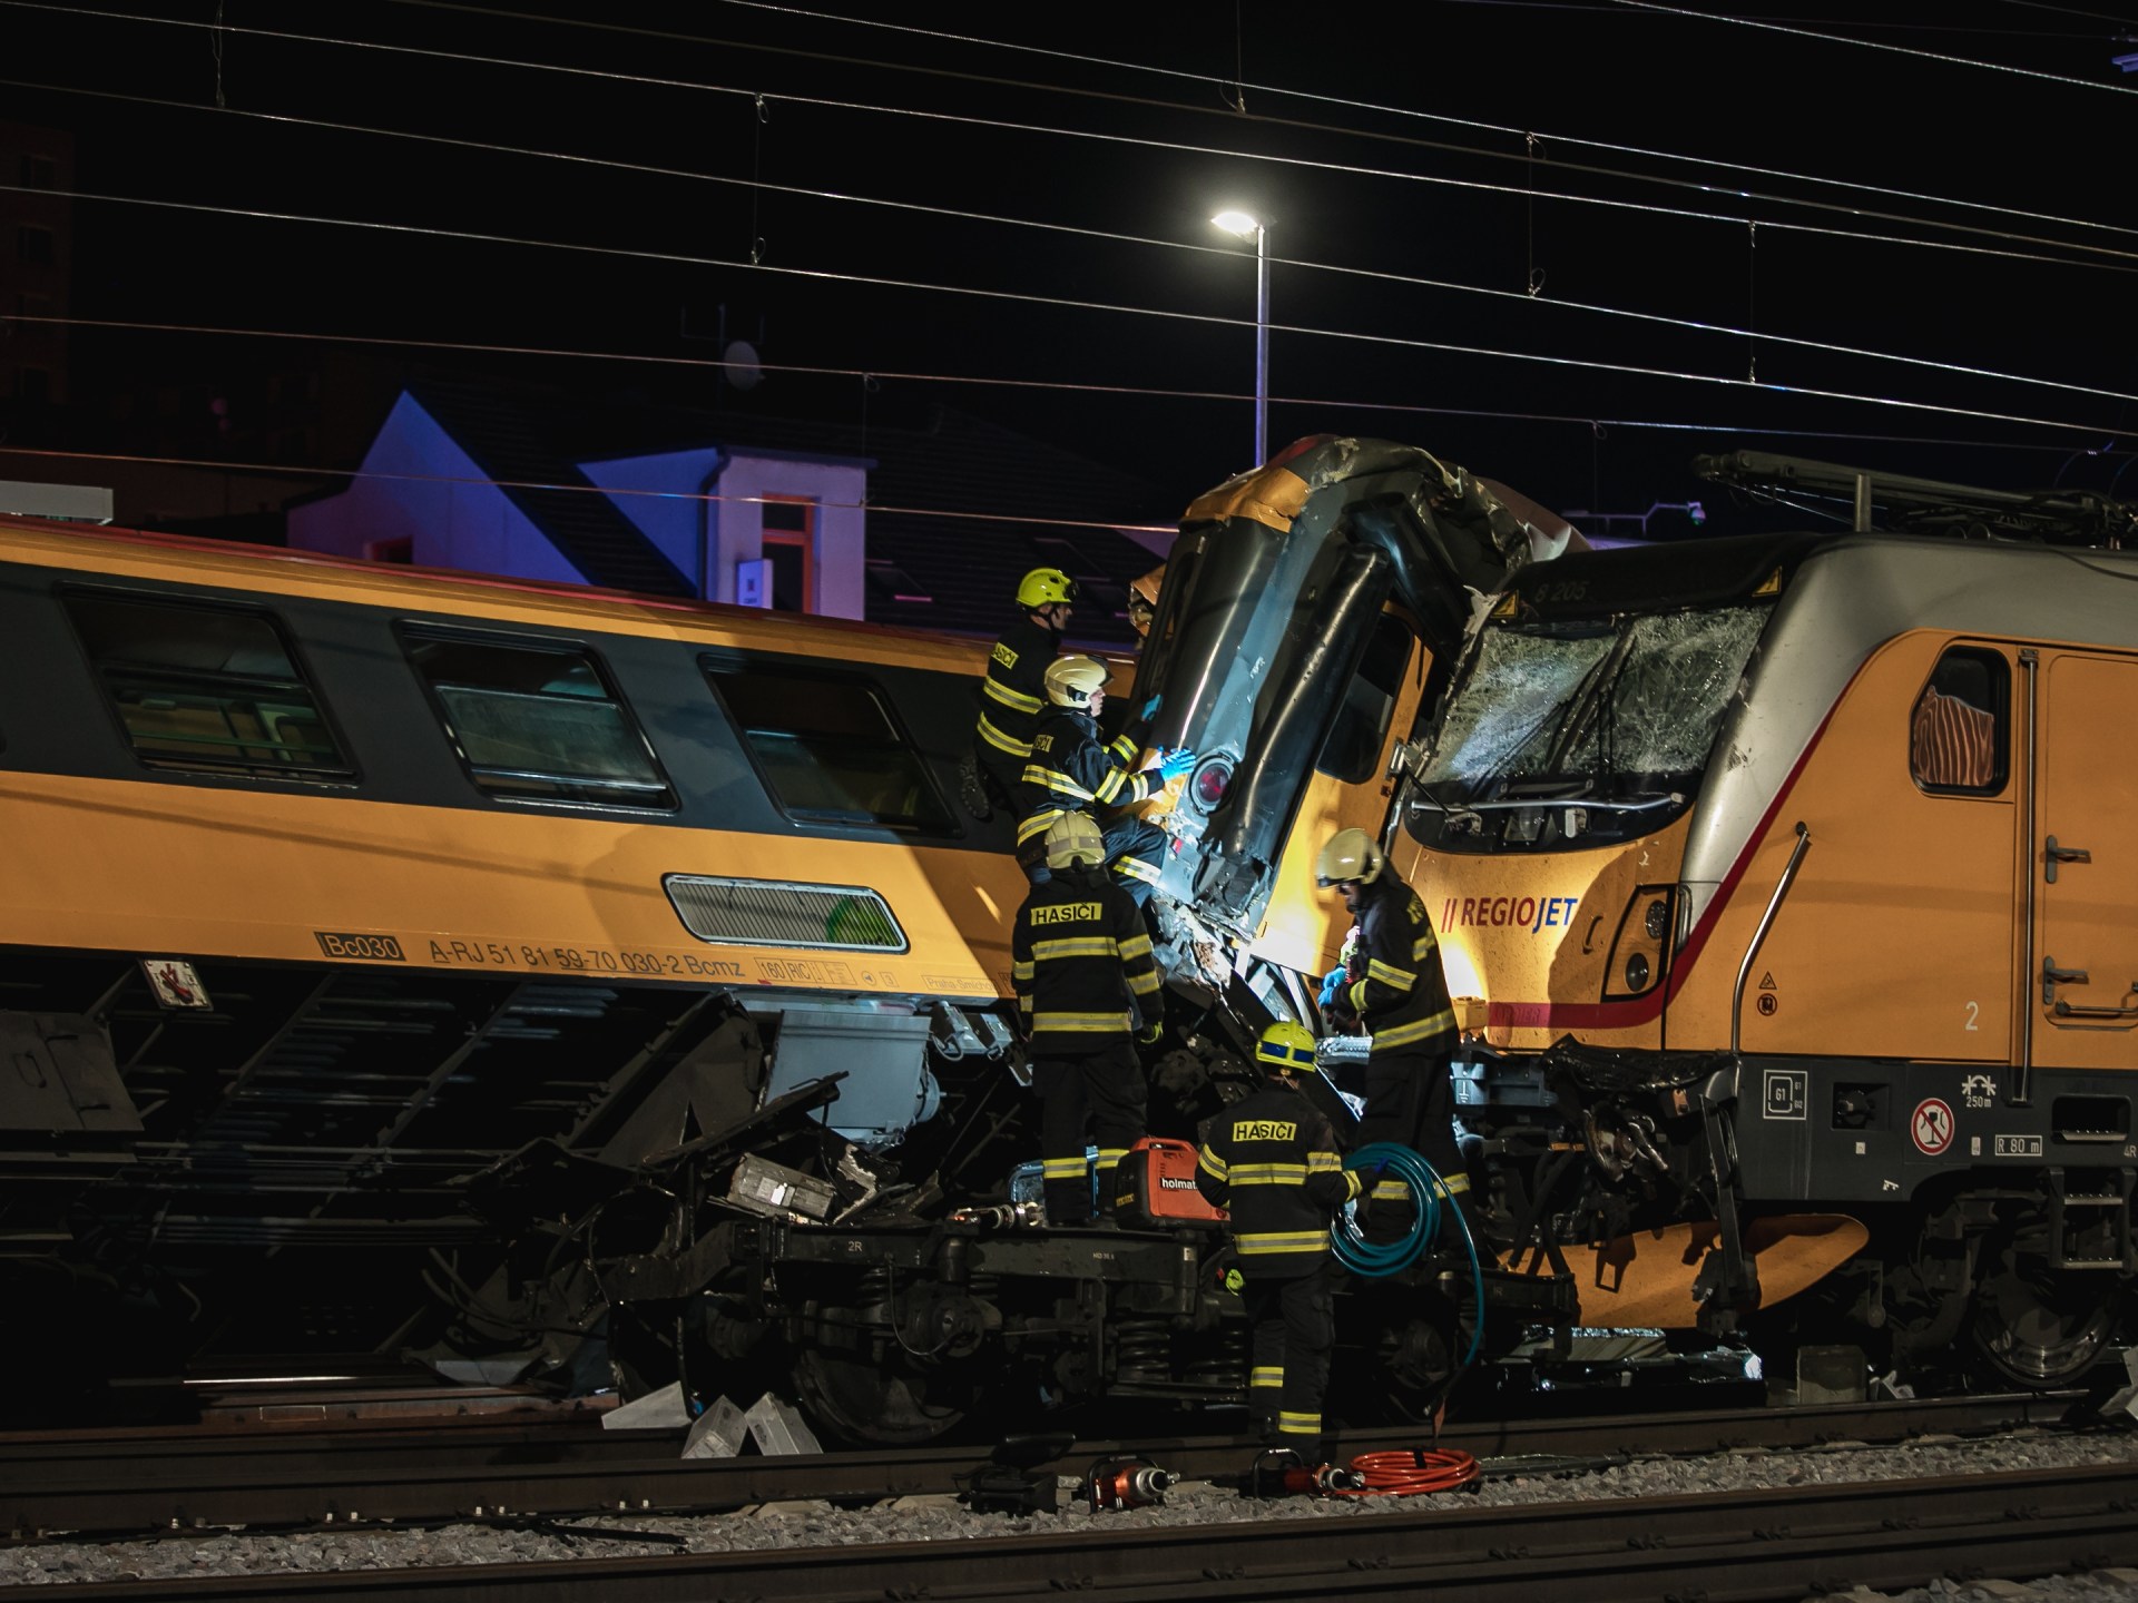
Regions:
M 2040 1577 L 2138 1560 L 2138 1466 L 1939 1477 L 1676 1498 L 1482 1509 L 1465 1498 L 1355 1518 L 1069 1535 L 785 1547 L 744 1554 L 458 1565 L 443 1569 L 218 1575 L 75 1584 L 94 1599 L 453 1597 L 483 1603 L 667 1603 L 928 1597 L 986 1603 L 1050 1590 L 1084 1597 L 1370 1599 L 1529 1603 L 1802 1599 L 1896 1590 L 1941 1575 Z M 1565 1592 L 1556 1590 L 1565 1588 Z

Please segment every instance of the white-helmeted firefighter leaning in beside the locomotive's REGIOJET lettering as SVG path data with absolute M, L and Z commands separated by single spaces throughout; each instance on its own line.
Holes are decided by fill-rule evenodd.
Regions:
M 1447 1077 L 1456 1013 L 1441 975 L 1441 945 L 1424 902 L 1385 868 L 1385 853 L 1364 829 L 1338 829 L 1315 859 L 1315 883 L 1334 885 L 1358 919 L 1351 977 L 1330 1009 L 1332 1022 L 1358 1022 L 1373 1037 L 1358 1139 L 1417 1152 L 1441 1176 L 1445 1197 L 1467 1214 L 1469 1173 L 1456 1146 Z M 1400 1238 L 1411 1216 L 1411 1188 L 1379 1180 L 1368 1210 L 1373 1238 Z

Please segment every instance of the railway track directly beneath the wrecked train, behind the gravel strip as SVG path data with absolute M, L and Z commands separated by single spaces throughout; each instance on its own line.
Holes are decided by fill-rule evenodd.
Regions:
M 1479 1460 L 1612 1462 L 1728 1447 L 1896 1443 L 2070 1423 L 2085 1394 L 2010 1394 L 1798 1409 L 1640 1413 L 1450 1426 L 1441 1447 Z M 1345 1432 L 1341 1453 L 1413 1447 L 1417 1430 Z M 1191 1479 L 1238 1475 L 1238 1436 L 1054 1443 L 1035 1468 L 1073 1475 L 1135 1453 Z M 0 1436 L 0 1532 L 133 1537 L 244 1526 L 443 1524 L 481 1518 L 718 1513 L 759 1503 L 870 1503 L 956 1492 L 981 1447 L 797 1458 L 678 1458 L 676 1432 L 599 1430 L 592 1417 L 274 1432 Z

